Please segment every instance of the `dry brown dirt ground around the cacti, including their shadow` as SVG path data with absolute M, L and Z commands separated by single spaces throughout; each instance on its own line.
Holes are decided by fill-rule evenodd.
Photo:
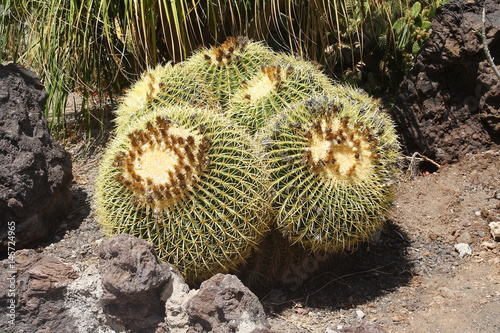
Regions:
M 74 156 L 74 211 L 38 248 L 65 262 L 97 258 L 103 238 L 92 211 L 99 152 Z M 277 332 L 378 323 L 388 332 L 500 332 L 500 150 L 467 156 L 401 181 L 380 236 L 356 252 L 318 262 L 291 287 L 255 290 Z M 462 258 L 457 243 L 471 255 Z M 330 331 L 331 332 L 331 331 Z

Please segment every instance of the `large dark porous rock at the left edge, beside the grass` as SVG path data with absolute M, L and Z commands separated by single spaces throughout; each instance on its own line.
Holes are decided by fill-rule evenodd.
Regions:
M 35 246 L 71 208 L 71 158 L 50 135 L 46 100 L 33 72 L 0 65 L 0 252 L 9 241 L 18 250 Z

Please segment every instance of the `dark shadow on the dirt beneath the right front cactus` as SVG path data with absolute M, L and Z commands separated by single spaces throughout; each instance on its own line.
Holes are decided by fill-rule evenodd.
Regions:
M 306 262 L 302 269 L 291 270 L 295 279 L 287 275 L 287 282 L 292 283 L 252 291 L 268 313 L 280 313 L 297 302 L 331 310 L 353 308 L 408 285 L 414 276 L 414 265 L 407 256 L 409 246 L 401 227 L 388 221 L 376 243 L 363 244 L 316 266 Z M 308 266 L 317 270 L 307 273 Z

